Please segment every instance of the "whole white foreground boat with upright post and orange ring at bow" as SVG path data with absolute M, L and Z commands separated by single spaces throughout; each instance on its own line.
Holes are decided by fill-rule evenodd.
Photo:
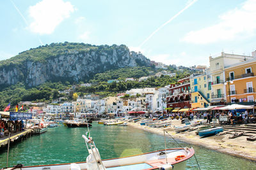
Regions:
M 88 136 L 88 134 L 86 135 Z M 44 166 L 24 166 L 9 167 L 6 170 L 118 170 L 118 169 L 186 169 L 186 161 L 193 157 L 195 150 L 193 148 L 166 148 L 154 152 L 142 153 L 128 157 L 101 160 L 99 150 L 96 148 L 93 139 L 83 135 L 88 149 L 86 162 L 54 164 Z

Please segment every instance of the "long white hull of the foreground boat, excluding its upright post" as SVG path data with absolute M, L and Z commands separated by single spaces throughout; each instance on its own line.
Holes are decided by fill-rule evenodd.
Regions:
M 195 151 L 193 148 L 173 148 L 168 149 L 167 151 L 167 160 L 168 163 L 172 164 L 173 169 L 186 169 L 186 160 L 190 159 Z M 159 150 L 156 152 L 143 153 L 140 155 L 134 155 L 130 157 L 122 157 L 117 159 L 106 159 L 102 160 L 102 163 L 106 169 L 110 167 L 120 167 L 120 166 L 136 166 L 138 164 L 147 164 L 150 168 L 146 169 L 158 169 L 159 167 L 166 164 L 166 155 L 164 154 L 165 150 Z M 184 155 L 185 157 L 180 160 L 175 160 L 175 157 L 179 155 Z M 87 169 L 88 165 L 86 162 L 77 162 L 76 163 L 81 169 Z M 12 167 L 8 168 L 8 170 Z M 13 168 L 12 170 L 14 170 Z M 17 170 L 20 168 L 17 168 Z M 27 166 L 22 167 L 22 170 L 70 170 L 70 164 L 55 164 L 55 165 L 45 165 L 45 166 Z M 145 168 L 143 168 L 145 169 Z M 87 169 L 92 170 L 92 169 Z M 93 169 L 94 170 L 94 169 Z

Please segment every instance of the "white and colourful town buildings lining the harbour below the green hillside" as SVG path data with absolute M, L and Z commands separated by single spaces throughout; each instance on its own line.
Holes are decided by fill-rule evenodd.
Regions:
M 157 62 L 155 63 L 157 64 Z M 159 64 L 163 66 L 164 64 Z M 131 89 L 119 93 L 115 97 L 100 99 L 97 94 L 79 96 L 76 101 L 61 103 L 61 98 L 54 104 L 20 102 L 19 105 L 30 107 L 31 113 L 38 114 L 74 114 L 79 113 L 106 114 L 120 116 L 142 111 L 141 113 L 170 113 L 204 110 L 208 106 L 227 104 L 253 105 L 256 103 L 256 93 L 253 84 L 256 82 L 256 52 L 252 56 L 235 55 L 221 52 L 216 57 L 209 57 L 209 68 L 193 67 L 201 73 L 193 73 L 161 88 Z M 162 71 L 162 74 L 175 76 L 175 73 Z M 141 77 L 143 81 L 148 77 Z M 116 80 L 109 80 L 116 81 Z M 135 81 L 126 78 L 125 81 Z M 90 83 L 81 86 L 90 87 Z M 76 87 L 72 87 L 75 89 Z M 69 92 L 68 90 L 66 91 Z

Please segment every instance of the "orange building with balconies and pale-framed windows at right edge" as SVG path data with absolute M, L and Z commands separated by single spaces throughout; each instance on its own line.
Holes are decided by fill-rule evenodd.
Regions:
M 225 68 L 227 102 L 255 104 L 256 57 Z

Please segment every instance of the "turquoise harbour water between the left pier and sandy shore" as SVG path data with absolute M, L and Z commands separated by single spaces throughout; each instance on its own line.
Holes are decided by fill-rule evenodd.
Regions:
M 60 164 L 85 161 L 88 155 L 81 137 L 86 128 L 48 128 L 40 136 L 31 136 L 10 149 L 9 167 Z M 102 159 L 134 155 L 164 149 L 164 137 L 132 127 L 104 126 L 93 123 L 90 128 Z M 182 146 L 193 146 L 179 141 Z M 206 144 L 205 144 L 206 145 Z M 172 139 L 168 148 L 179 147 Z M 224 153 L 193 146 L 201 169 L 256 169 L 256 163 Z M 0 167 L 6 167 L 7 150 L 0 152 Z M 188 169 L 198 169 L 195 157 L 188 160 Z

